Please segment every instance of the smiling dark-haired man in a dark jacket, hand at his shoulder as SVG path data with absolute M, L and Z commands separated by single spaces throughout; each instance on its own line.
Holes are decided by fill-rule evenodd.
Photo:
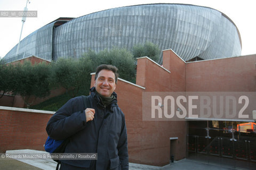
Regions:
M 65 152 L 98 154 L 97 160 L 61 160 L 60 169 L 129 169 L 125 118 L 114 92 L 117 77 L 115 66 L 98 66 L 90 108 L 81 96 L 72 98 L 47 123 L 51 138 L 70 139 Z

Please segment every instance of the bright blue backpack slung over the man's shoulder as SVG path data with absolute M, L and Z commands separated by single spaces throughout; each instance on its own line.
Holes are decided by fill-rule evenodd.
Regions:
M 85 106 L 84 109 L 86 109 L 87 107 L 90 106 L 89 99 L 88 99 L 89 96 L 82 96 L 82 98 L 84 100 L 84 106 Z M 49 152 L 50 154 L 64 153 L 68 143 L 69 143 L 69 138 L 65 140 L 54 140 L 51 137 L 48 137 L 45 141 L 44 150 L 46 152 Z M 57 159 L 53 159 L 53 160 L 58 163 L 56 169 L 59 169 L 60 160 L 57 160 Z

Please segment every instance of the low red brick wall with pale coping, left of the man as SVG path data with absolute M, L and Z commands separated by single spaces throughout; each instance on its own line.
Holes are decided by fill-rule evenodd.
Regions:
M 4 109 L 3 109 L 4 108 Z M 44 150 L 46 124 L 52 114 L 12 111 L 0 107 L 0 152 L 15 149 Z

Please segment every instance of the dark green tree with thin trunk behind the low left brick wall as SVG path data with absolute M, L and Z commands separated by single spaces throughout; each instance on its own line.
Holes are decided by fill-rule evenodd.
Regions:
M 11 91 L 14 95 L 20 95 L 27 108 L 34 103 L 37 97 L 45 97 L 50 94 L 49 77 L 50 67 L 46 63 L 38 63 L 34 66 L 29 61 L 23 64 L 10 65 L 12 68 Z M 31 101 L 31 97 L 35 97 Z

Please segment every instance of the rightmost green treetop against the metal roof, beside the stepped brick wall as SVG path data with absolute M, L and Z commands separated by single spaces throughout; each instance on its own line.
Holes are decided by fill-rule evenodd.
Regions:
M 155 62 L 158 62 L 160 53 L 159 47 L 148 41 L 144 45 L 138 44 L 132 48 L 132 54 L 135 58 L 147 56 Z

